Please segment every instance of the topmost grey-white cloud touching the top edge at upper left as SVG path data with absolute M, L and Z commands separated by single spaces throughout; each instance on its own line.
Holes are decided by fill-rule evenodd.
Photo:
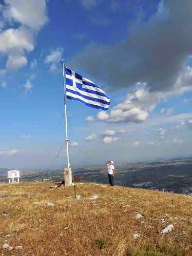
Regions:
M 39 30 L 48 20 L 46 0 L 4 0 L 3 17 L 16 20 L 32 30 Z

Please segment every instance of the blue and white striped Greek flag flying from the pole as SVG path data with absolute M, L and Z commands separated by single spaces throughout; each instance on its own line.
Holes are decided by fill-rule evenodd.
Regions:
M 109 108 L 110 98 L 95 83 L 67 67 L 65 67 L 65 75 L 68 99 L 78 100 L 92 108 L 102 110 Z

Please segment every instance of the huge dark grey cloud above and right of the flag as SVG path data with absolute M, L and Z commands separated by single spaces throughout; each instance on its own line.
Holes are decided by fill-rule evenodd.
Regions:
M 161 0 L 149 19 L 132 22 L 127 39 L 113 45 L 91 42 L 71 65 L 114 89 L 147 82 L 150 91 L 170 90 L 192 55 L 191 9 L 191 0 Z

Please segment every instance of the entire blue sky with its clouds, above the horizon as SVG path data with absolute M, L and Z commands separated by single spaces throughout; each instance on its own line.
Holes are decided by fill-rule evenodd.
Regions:
M 111 98 L 107 112 L 68 100 L 72 167 L 192 155 L 191 10 L 190 0 L 0 0 L 0 168 L 55 158 L 62 58 Z

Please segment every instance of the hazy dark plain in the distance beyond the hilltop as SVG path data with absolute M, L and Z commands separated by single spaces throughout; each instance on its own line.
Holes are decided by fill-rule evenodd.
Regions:
M 124 163 L 115 165 L 115 184 L 126 187 L 143 187 L 167 192 L 192 193 L 192 158 L 161 161 Z M 73 176 L 87 182 L 108 183 L 105 165 L 85 165 L 73 167 Z M 41 172 L 21 172 L 21 181 L 41 181 L 46 170 Z M 1 171 L 0 182 L 7 182 L 6 172 Z M 45 176 L 52 181 L 63 179 L 63 169 L 55 169 Z

